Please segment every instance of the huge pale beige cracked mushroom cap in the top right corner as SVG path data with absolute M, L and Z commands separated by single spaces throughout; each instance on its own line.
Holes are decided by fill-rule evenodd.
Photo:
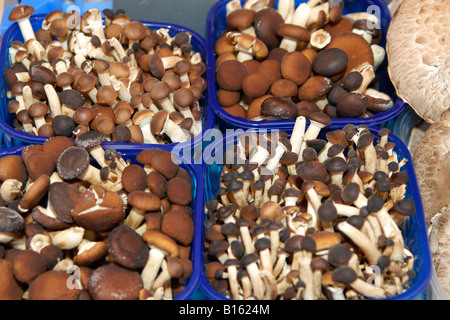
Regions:
M 428 123 L 438 120 L 448 108 L 449 67 L 445 53 L 449 43 L 441 24 L 447 12 L 440 5 L 402 1 L 386 36 L 388 73 L 396 93 Z M 414 28 L 410 28 L 411 21 L 415 21 Z

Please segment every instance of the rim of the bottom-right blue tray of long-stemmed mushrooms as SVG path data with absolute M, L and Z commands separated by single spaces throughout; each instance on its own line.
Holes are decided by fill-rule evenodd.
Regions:
M 367 127 L 371 133 L 375 134 L 375 136 L 378 137 L 378 132 L 381 129 L 380 127 L 370 126 L 370 125 L 368 125 Z M 333 130 L 333 128 L 329 128 L 329 127 L 326 127 L 324 129 L 325 130 L 326 129 Z M 256 132 L 260 131 L 260 130 L 253 130 L 253 129 L 249 129 L 249 130 L 256 131 Z M 265 128 L 261 128 L 261 130 L 265 130 Z M 281 129 L 281 130 L 283 130 L 283 129 Z M 290 133 L 291 131 L 292 130 L 290 130 L 288 133 Z M 216 147 L 223 145 L 227 141 L 233 141 L 234 138 L 236 138 L 240 134 L 242 134 L 242 132 L 224 134 L 221 139 L 217 139 L 217 140 L 213 141 L 208 147 L 215 149 Z M 233 138 L 233 140 L 231 140 L 231 138 Z M 230 139 L 230 140 L 227 140 L 227 139 Z M 406 158 L 408 160 L 411 159 L 411 154 L 410 154 L 409 150 L 395 134 L 393 134 L 393 133 L 389 134 L 389 141 L 392 141 L 395 143 L 394 150 L 399 150 L 404 158 Z M 204 174 L 205 180 L 206 180 L 207 179 L 206 168 L 207 168 L 207 166 L 214 164 L 214 162 L 211 162 L 209 160 L 209 158 L 206 158 L 206 161 L 204 161 L 204 163 L 210 163 L 210 164 L 205 164 L 204 168 L 203 168 L 203 174 Z M 416 222 L 416 228 L 417 228 L 417 232 L 418 232 L 417 238 L 420 240 L 420 244 L 418 244 L 417 248 L 418 248 L 418 251 L 420 251 L 420 256 L 418 257 L 417 255 L 415 255 L 415 259 L 416 259 L 416 261 L 418 259 L 420 259 L 419 261 L 420 261 L 420 271 L 421 272 L 418 273 L 418 275 L 414 278 L 414 283 L 411 285 L 411 287 L 407 291 L 405 291 L 404 293 L 399 294 L 397 296 L 389 297 L 384 300 L 413 300 L 413 299 L 416 299 L 418 296 L 420 296 L 427 290 L 429 283 L 431 281 L 431 277 L 432 277 L 433 265 L 432 265 L 431 252 L 430 252 L 430 247 L 429 247 L 429 242 L 428 242 L 427 224 L 425 221 L 425 214 L 423 211 L 422 199 L 421 199 L 419 186 L 418 186 L 417 178 L 416 178 L 416 173 L 415 173 L 414 165 L 413 165 L 412 161 L 407 161 L 405 164 L 405 168 L 406 168 L 406 171 L 407 171 L 408 177 L 409 177 L 409 189 L 411 192 L 410 197 L 411 197 L 411 199 L 414 200 L 414 203 L 416 205 L 416 214 L 412 217 L 409 217 L 409 219 L 414 219 Z M 208 190 L 206 181 L 205 181 L 204 190 L 205 190 L 204 198 L 205 198 L 205 201 L 207 201 L 208 195 L 206 194 L 206 192 L 208 192 L 209 190 Z M 203 243 L 204 243 L 204 239 L 202 240 L 202 250 L 204 251 Z M 202 259 L 203 259 L 203 255 L 202 255 Z M 203 268 L 202 268 L 202 278 L 200 280 L 200 288 L 203 290 L 203 292 L 207 296 L 210 296 L 214 299 L 219 299 L 219 300 L 224 300 L 224 299 L 228 300 L 224 296 L 220 295 L 217 291 L 215 291 L 209 285 L 209 283 L 206 279 L 205 272 L 204 272 L 204 259 L 203 259 Z

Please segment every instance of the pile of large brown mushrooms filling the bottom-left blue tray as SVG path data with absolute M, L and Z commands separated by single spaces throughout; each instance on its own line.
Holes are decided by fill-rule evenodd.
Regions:
M 1 300 L 169 300 L 185 289 L 189 172 L 163 149 L 104 150 L 99 134 L 0 158 Z

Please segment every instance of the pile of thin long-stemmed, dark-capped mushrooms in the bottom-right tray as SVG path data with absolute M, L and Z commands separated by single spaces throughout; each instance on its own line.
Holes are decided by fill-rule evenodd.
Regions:
M 216 196 L 205 204 L 205 270 L 234 300 L 384 299 L 415 277 L 402 228 L 405 198 L 389 129 L 319 134 L 322 112 L 292 135 L 242 134 L 227 149 Z

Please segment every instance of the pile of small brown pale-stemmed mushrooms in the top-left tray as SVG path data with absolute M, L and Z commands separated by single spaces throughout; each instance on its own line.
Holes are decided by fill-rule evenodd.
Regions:
M 4 73 L 14 127 L 76 137 L 88 130 L 117 142 L 166 144 L 202 131 L 206 65 L 188 32 L 151 30 L 123 10 L 50 12 L 34 32 L 34 8 L 16 6 L 24 43 L 9 48 Z

